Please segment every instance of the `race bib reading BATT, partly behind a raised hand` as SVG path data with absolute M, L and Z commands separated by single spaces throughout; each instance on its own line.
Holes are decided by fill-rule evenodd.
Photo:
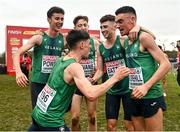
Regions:
M 105 65 L 106 65 L 106 71 L 107 71 L 108 77 L 111 78 L 119 66 L 125 66 L 125 61 L 124 59 L 110 61 L 110 62 L 106 62 Z

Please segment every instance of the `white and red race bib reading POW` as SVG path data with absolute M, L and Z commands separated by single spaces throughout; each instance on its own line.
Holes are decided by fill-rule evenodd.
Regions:
M 50 73 L 57 58 L 58 56 L 43 55 L 41 72 Z

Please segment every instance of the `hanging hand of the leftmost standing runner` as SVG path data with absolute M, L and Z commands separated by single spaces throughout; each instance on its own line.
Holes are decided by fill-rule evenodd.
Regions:
M 27 79 L 26 75 L 24 75 L 24 73 L 19 72 L 16 73 L 16 83 L 20 87 L 26 87 L 29 84 L 29 80 Z

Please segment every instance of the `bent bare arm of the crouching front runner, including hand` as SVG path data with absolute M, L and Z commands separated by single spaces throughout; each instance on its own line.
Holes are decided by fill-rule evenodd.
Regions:
M 125 76 L 129 74 L 129 69 L 126 67 L 120 67 L 116 70 L 113 77 L 107 80 L 105 83 L 100 85 L 92 85 L 88 79 L 85 77 L 82 66 L 79 63 L 72 63 L 66 68 L 66 73 L 71 76 L 76 83 L 78 89 L 89 99 L 95 100 L 97 97 L 104 94 L 109 88 L 111 88 L 116 82 L 123 79 Z M 67 75 L 68 76 L 68 75 Z M 66 76 L 66 77 L 67 77 Z M 67 81 L 67 79 L 65 79 Z

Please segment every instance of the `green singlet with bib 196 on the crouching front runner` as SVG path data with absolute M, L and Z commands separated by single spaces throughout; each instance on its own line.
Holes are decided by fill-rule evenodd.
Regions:
M 43 127 L 65 125 L 64 115 L 72 101 L 76 89 L 64 81 L 64 69 L 75 62 L 75 59 L 59 58 L 49 76 L 48 82 L 37 98 L 37 105 L 32 112 L 34 120 Z

